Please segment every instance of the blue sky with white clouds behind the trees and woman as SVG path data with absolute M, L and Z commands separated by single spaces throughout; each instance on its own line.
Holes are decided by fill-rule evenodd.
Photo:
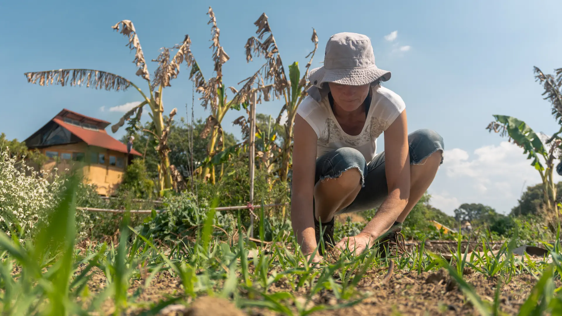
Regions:
M 0 132 L 25 139 L 62 108 L 115 122 L 122 114 L 109 111 L 111 107 L 139 101 L 133 90 L 40 87 L 26 83 L 23 75 L 81 67 L 120 74 L 144 87 L 143 80 L 134 75 L 134 55 L 125 47 L 126 40 L 110 28 L 120 20 L 134 22 L 147 60 L 189 34 L 192 51 L 210 77 L 210 27 L 205 13 L 212 6 L 221 44 L 230 55 L 223 67 L 227 85 L 236 86 L 261 65 L 259 60 L 246 62 L 244 43 L 254 34 L 253 22 L 262 12 L 269 16 L 284 64 L 299 61 L 301 69 L 312 49 L 312 28 L 320 40 L 313 66 L 321 65 L 330 35 L 341 31 L 368 35 L 378 67 L 392 71 L 386 87 L 406 102 L 409 129 L 431 128 L 445 138 L 446 162 L 429 192 L 432 203 L 447 213 L 463 202 L 509 211 L 523 183 L 540 180 L 519 148 L 502 143 L 506 139 L 488 134 L 484 127 L 492 114 L 505 114 L 527 121 L 537 131 L 558 130 L 549 103 L 541 98 L 542 88 L 534 82 L 532 67 L 547 72 L 562 67 L 562 33 L 556 25 L 562 2 L 317 3 L 0 2 Z M 396 37 L 385 38 L 393 31 Z M 155 66 L 148 63 L 151 74 Z M 172 87 L 166 88 L 166 111 L 178 107 L 185 116 L 185 103 L 191 108 L 192 84 L 187 76 L 183 66 Z M 281 106 L 280 102 L 263 103 L 258 112 L 275 116 Z M 196 118 L 207 115 L 196 99 Z M 227 115 L 224 128 L 239 134 L 229 123 L 239 115 Z

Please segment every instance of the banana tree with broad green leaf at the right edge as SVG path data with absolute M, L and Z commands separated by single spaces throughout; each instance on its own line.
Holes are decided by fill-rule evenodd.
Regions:
M 542 180 L 542 198 L 545 205 L 546 215 L 552 216 L 556 219 L 556 223 L 560 223 L 558 214 L 558 201 L 557 187 L 552 179 L 552 173 L 555 169 L 554 161 L 560 160 L 562 154 L 562 138 L 559 136 L 562 133 L 562 92 L 560 87 L 562 85 L 562 69 L 556 69 L 556 76 L 544 74 L 538 67 L 534 67 L 535 79 L 540 82 L 546 95 L 545 100 L 549 100 L 552 105 L 552 115 L 558 119 L 560 130 L 550 138 L 542 134 L 542 139 L 539 134 L 522 120 L 516 119 L 513 116 L 494 115 L 495 121 L 492 121 L 487 129 L 492 132 L 500 133 L 500 136 L 509 136 L 509 141 L 513 141 L 515 145 L 523 148 L 523 154 L 528 154 L 527 159 L 531 159 L 531 165 L 541 175 Z M 559 167 L 562 165 L 559 164 Z M 562 168 L 560 168 L 562 172 Z M 554 229 L 556 226 L 550 221 L 550 227 Z

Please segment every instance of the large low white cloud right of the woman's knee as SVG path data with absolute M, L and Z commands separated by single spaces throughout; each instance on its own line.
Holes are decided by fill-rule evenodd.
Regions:
M 472 155 L 460 148 L 446 150 L 444 155 L 428 191 L 432 195 L 430 203 L 447 214 L 462 203 L 482 203 L 509 213 L 523 185 L 541 182 L 523 149 L 509 142 L 482 146 Z M 556 173 L 554 178 L 556 182 L 561 179 Z

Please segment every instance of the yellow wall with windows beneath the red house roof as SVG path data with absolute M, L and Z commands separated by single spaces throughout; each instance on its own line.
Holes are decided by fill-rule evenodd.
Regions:
M 68 145 L 56 145 L 51 147 L 42 148 L 41 152 L 45 154 L 47 151 L 58 152 L 58 161 L 49 160 L 43 165 L 46 170 L 51 170 L 55 166 L 58 168 L 59 172 L 65 172 L 65 169 L 71 169 L 74 165 L 78 164 L 77 161 L 67 161 L 62 160 L 61 153 L 77 153 L 82 152 L 85 155 L 85 161 L 83 167 L 81 168 L 84 174 L 84 182 L 88 184 L 95 184 L 97 186 L 97 191 L 99 195 L 111 195 L 115 192 L 119 183 L 123 180 L 123 175 L 126 169 L 127 154 L 123 152 L 107 150 L 106 148 L 88 146 L 85 142 L 68 144 Z M 92 153 L 104 154 L 105 164 L 99 164 L 97 161 L 91 162 Z M 123 158 L 124 166 L 123 168 L 110 165 L 110 156 L 115 156 Z

